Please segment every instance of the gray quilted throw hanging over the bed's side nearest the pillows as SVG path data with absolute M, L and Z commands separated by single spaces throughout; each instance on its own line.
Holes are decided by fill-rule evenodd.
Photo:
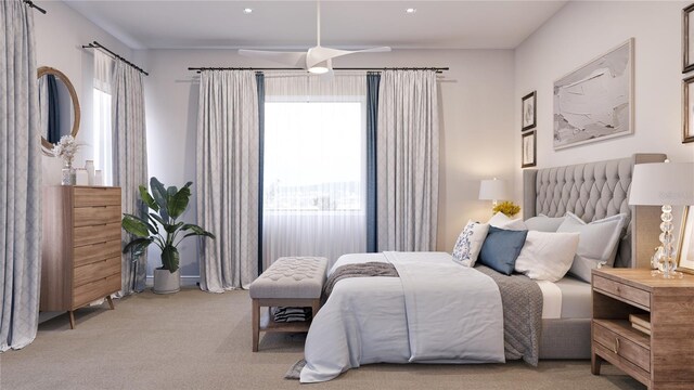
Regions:
M 538 365 L 542 332 L 542 290 L 525 275 L 502 275 L 478 264 L 475 270 L 499 286 L 503 304 L 503 333 L 506 360 L 523 360 Z

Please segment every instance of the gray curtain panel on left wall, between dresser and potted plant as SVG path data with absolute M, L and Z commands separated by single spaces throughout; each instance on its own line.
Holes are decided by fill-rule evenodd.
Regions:
M 147 185 L 147 145 L 144 120 L 144 81 L 142 74 L 120 60 L 115 60 L 112 86 L 113 182 L 121 191 L 123 212 L 147 217 L 140 199 L 140 185 Z M 131 240 L 123 231 L 124 245 Z M 145 285 L 146 252 L 136 257 L 124 253 L 123 288 L 118 296 L 142 291 Z

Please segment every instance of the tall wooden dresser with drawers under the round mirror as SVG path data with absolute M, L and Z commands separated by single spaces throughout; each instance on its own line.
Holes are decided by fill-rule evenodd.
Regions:
M 43 187 L 41 311 L 73 311 L 120 289 L 120 188 Z

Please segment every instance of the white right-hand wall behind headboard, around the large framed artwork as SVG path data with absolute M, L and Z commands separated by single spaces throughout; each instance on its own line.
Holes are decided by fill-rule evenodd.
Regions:
M 583 1 L 557 12 L 515 51 L 514 138 L 520 144 L 520 99 L 537 90 L 538 167 L 666 153 L 694 160 L 682 144 L 681 13 L 689 1 Z M 634 133 L 553 150 L 553 82 L 627 39 L 634 38 Z M 515 151 L 520 159 L 520 151 Z M 516 195 L 522 173 L 516 164 Z

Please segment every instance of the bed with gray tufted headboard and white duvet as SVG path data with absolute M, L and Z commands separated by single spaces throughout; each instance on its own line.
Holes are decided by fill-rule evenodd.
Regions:
M 628 188 L 634 164 L 664 159 L 660 154 L 637 154 L 525 170 L 524 217 L 554 218 L 568 211 L 591 222 L 624 214 L 627 227 L 615 266 L 644 266 L 635 259 L 643 262 L 657 246 L 659 211 L 657 207 L 629 206 Z M 513 275 L 512 286 L 502 288 L 505 277 L 497 277 L 484 266 L 460 266 L 445 252 L 349 255 L 331 272 L 367 262 L 390 263 L 399 277 L 355 277 L 334 285 L 309 329 L 301 382 L 330 380 L 371 363 L 502 363 L 523 359 L 537 364 L 538 359 L 590 358 L 592 304 L 590 284 L 584 281 L 566 276 L 555 283 L 536 283 Z M 460 283 L 463 280 L 465 283 Z M 514 285 L 516 282 L 519 285 Z M 501 303 L 515 296 L 520 300 Z M 519 316 L 509 321 L 510 312 Z

